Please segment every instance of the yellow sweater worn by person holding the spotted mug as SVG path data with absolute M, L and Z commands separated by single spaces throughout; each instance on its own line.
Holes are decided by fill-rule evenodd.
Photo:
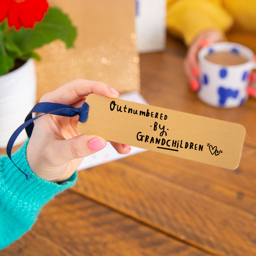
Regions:
M 256 33 L 256 0 L 167 0 L 166 25 L 186 44 L 211 28 L 226 32 L 236 26 Z

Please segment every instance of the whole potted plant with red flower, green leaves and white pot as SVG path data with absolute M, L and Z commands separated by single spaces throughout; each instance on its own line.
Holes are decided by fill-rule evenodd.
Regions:
M 69 48 L 75 37 L 68 16 L 47 0 L 0 0 L 0 148 L 35 104 L 35 50 L 56 39 Z

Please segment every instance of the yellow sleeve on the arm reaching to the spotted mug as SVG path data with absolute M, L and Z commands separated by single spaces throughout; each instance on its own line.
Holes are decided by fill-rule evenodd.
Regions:
M 204 30 L 225 32 L 232 24 L 232 16 L 218 0 L 167 0 L 167 30 L 187 45 Z

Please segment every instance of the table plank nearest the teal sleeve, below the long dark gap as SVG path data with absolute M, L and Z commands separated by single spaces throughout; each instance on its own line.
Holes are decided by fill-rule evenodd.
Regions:
M 208 254 L 84 196 L 65 191 L 47 204 L 30 232 L 1 256 Z

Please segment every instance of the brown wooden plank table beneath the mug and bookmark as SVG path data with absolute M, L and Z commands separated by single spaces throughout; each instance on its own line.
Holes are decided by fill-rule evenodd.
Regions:
M 256 37 L 230 38 L 256 52 Z M 234 109 L 201 103 L 184 76 L 185 52 L 168 37 L 165 52 L 141 55 L 141 94 L 150 105 L 243 124 L 239 168 L 147 151 L 80 171 L 1 256 L 256 255 L 256 100 Z

